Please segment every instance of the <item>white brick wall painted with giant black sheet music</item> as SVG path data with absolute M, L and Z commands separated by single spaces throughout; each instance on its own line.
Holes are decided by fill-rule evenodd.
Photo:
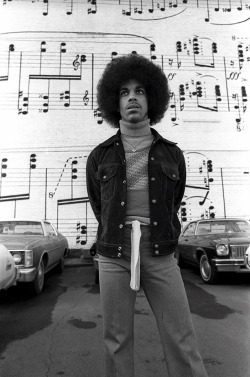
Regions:
M 3 0 L 1 218 L 48 219 L 72 248 L 92 244 L 86 158 L 116 132 L 98 111 L 96 84 L 110 59 L 136 51 L 170 83 L 156 129 L 185 154 L 182 224 L 249 219 L 249 23 L 241 0 Z

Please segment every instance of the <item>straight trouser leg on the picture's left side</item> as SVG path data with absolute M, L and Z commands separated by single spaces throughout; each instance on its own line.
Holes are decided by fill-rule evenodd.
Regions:
M 134 377 L 136 292 L 130 288 L 130 271 L 115 260 L 100 257 L 99 273 L 106 377 Z

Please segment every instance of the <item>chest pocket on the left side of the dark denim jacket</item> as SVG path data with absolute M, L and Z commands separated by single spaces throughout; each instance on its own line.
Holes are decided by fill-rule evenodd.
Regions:
M 100 181 L 102 200 L 110 200 L 114 195 L 117 168 L 118 164 L 106 164 L 98 167 L 96 178 Z

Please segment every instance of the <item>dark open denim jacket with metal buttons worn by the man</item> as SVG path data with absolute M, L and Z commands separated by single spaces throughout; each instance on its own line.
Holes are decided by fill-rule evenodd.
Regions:
M 151 128 L 154 141 L 148 156 L 150 230 L 152 255 L 175 251 L 181 231 L 177 216 L 184 194 L 186 167 L 176 143 Z M 122 257 L 126 216 L 126 160 L 120 130 L 90 153 L 87 190 L 99 223 L 97 252 Z

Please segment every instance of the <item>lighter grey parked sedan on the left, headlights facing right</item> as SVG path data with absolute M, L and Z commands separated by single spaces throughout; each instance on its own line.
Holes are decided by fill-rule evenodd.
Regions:
M 63 271 L 68 241 L 49 221 L 0 221 L 0 243 L 14 258 L 17 281 L 29 283 L 36 294 L 43 290 L 45 273 L 54 267 Z

